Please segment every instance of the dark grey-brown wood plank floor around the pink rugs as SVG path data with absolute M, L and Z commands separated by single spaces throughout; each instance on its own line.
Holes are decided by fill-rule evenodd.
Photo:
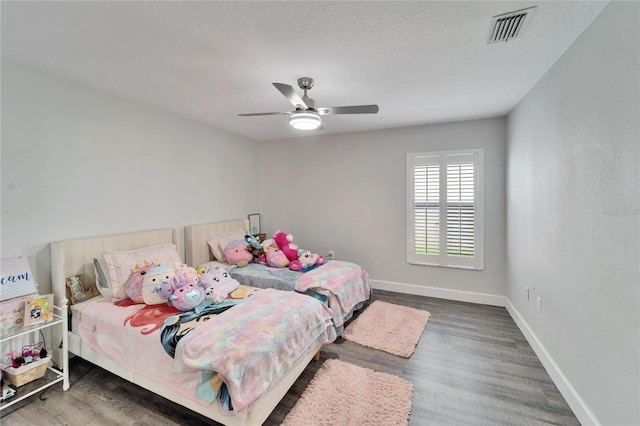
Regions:
M 504 308 L 386 291 L 374 300 L 431 312 L 415 353 L 399 358 L 338 339 L 311 362 L 266 425 L 279 425 L 329 358 L 414 385 L 410 425 L 579 425 Z M 71 388 L 56 385 L 2 412 L 13 425 L 205 425 L 208 419 L 74 358 Z M 361 425 L 358 425 L 361 426 Z

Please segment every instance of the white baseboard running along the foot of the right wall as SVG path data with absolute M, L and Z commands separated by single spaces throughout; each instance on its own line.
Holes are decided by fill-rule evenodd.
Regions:
M 600 425 L 601 423 L 598 421 L 593 412 L 589 409 L 587 404 L 582 400 L 578 392 L 576 392 L 575 388 L 571 385 L 567 377 L 562 373 L 558 364 L 553 360 L 553 357 L 547 349 L 544 347 L 542 342 L 538 340 L 536 334 L 531 330 L 527 322 L 524 320 L 522 315 L 518 312 L 518 310 L 511 304 L 511 301 L 508 298 L 505 298 L 507 311 L 511 315 L 511 318 L 515 321 L 516 325 L 524 334 L 524 337 L 527 339 L 527 342 L 533 348 L 533 351 L 536 353 L 540 362 L 544 366 L 544 369 L 547 370 L 547 373 L 553 380 L 553 383 L 556 385 L 564 399 L 573 410 L 573 414 L 576 415 L 578 421 L 582 425 Z

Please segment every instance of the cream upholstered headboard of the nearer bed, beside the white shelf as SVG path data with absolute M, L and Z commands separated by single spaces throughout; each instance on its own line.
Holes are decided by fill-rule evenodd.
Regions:
M 51 243 L 51 287 L 54 300 L 66 298 L 65 279 L 71 275 L 84 275 L 86 284 L 96 282 L 93 259 L 107 250 L 134 250 L 162 243 L 174 243 L 175 229 L 131 232 L 102 237 L 79 238 Z

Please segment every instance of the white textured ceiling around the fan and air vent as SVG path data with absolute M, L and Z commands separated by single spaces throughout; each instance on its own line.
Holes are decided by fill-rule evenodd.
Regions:
M 2 59 L 256 140 L 508 113 L 593 21 L 596 1 L 2 1 Z M 523 37 L 487 44 L 494 15 L 537 6 Z M 315 79 L 317 106 L 376 115 L 289 127 L 272 86 Z

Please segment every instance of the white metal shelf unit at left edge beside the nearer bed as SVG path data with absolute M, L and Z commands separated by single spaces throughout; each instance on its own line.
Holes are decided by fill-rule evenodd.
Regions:
M 38 392 L 42 392 L 50 386 L 55 385 L 56 383 L 62 382 L 62 390 L 66 391 L 69 389 L 69 352 L 67 350 L 69 341 L 68 341 L 68 326 L 69 326 L 69 317 L 67 315 L 67 301 L 63 300 L 62 306 L 54 306 L 54 315 L 51 321 L 48 321 L 44 324 L 37 324 L 30 327 L 25 327 L 22 331 L 17 333 L 11 333 L 0 337 L 0 345 L 9 342 L 15 338 L 20 336 L 24 336 L 27 334 L 31 334 L 34 332 L 39 332 L 40 330 L 53 327 L 60 327 L 62 333 L 62 366 L 61 369 L 52 367 L 49 365 L 47 371 L 41 379 L 34 380 L 33 382 L 24 384 L 18 388 L 16 388 L 16 393 L 9 397 L 4 401 L 0 401 L 0 411 L 4 410 L 16 404 L 26 398 L 29 398 L 32 395 L 35 395 Z M 52 333 L 53 336 L 56 336 L 57 333 Z M 49 339 L 52 347 L 46 348 L 47 351 L 51 354 L 54 352 L 54 347 L 56 341 L 53 339 Z

